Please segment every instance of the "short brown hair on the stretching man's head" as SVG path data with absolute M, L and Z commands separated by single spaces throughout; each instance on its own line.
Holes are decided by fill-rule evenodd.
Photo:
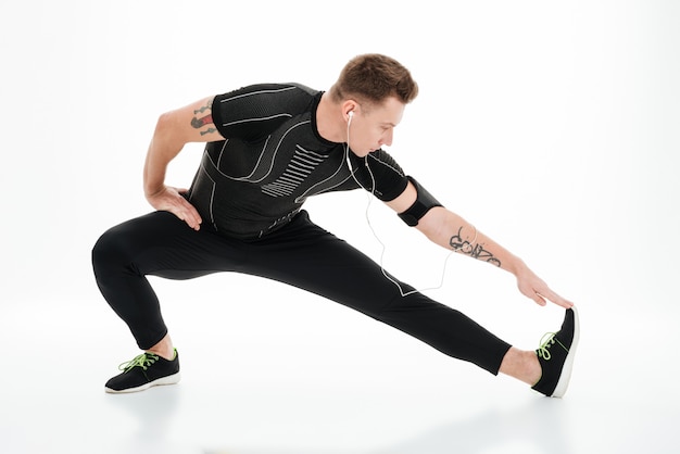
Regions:
M 330 88 L 335 102 L 356 98 L 360 102 L 380 103 L 396 97 L 404 104 L 418 94 L 418 85 L 396 60 L 378 53 L 366 53 L 350 60 L 338 81 Z

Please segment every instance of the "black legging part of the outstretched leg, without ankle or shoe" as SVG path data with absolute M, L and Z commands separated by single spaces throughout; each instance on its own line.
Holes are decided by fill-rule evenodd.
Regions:
M 249 251 L 249 273 L 308 290 L 393 326 L 441 352 L 498 374 L 509 344 L 461 312 L 413 292 L 402 297 L 380 266 L 299 215 Z M 410 292 L 412 287 L 401 282 Z

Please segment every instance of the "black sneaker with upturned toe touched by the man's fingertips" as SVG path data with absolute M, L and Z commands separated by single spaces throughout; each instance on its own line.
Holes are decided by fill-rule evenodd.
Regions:
M 559 331 L 543 336 L 541 346 L 536 351 L 543 375 L 531 388 L 549 398 L 562 398 L 569 386 L 578 342 L 579 316 L 576 307 L 571 307 L 567 310 Z

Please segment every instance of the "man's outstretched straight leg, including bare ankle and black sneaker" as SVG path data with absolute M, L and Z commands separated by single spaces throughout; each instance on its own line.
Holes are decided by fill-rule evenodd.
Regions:
M 249 273 L 274 278 L 355 308 L 428 343 L 441 352 L 503 373 L 546 394 L 566 391 L 575 348 L 578 317 L 567 311 L 562 329 L 539 350 L 511 348 L 487 329 L 446 305 L 413 292 L 406 297 L 388 280 L 380 266 L 344 241 L 315 226 L 302 213 L 284 231 L 257 244 L 249 256 L 256 263 Z M 553 345 L 553 354 L 547 352 Z

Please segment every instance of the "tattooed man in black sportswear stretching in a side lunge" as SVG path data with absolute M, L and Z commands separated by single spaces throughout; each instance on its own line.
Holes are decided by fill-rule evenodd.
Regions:
M 298 84 L 244 87 L 161 115 L 147 154 L 144 193 L 156 210 L 108 230 L 92 251 L 97 283 L 144 352 L 106 382 L 133 392 L 179 380 L 179 357 L 146 276 L 188 279 L 239 272 L 317 293 L 441 352 L 562 396 L 578 342 L 572 303 L 518 257 L 441 206 L 381 149 L 418 88 L 380 54 L 358 55 L 328 92 Z M 165 185 L 188 142 L 206 142 L 189 190 Z M 363 188 L 435 243 L 517 277 L 540 305 L 566 308 L 562 329 L 521 351 L 387 274 L 302 210 L 312 196 Z

